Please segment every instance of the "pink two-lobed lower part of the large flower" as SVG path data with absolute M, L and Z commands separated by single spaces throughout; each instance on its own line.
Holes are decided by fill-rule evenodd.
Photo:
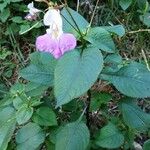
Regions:
M 56 59 L 74 49 L 76 44 L 76 38 L 69 33 L 62 34 L 59 39 L 53 39 L 50 34 L 44 34 L 36 39 L 36 48 L 39 51 L 51 53 Z

